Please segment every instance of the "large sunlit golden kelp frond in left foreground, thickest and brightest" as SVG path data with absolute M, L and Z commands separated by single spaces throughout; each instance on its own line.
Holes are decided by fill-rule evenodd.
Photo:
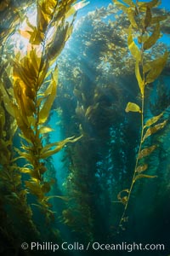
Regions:
M 52 184 L 43 179 L 47 171 L 43 160 L 59 152 L 65 143 L 73 143 L 80 138 L 71 137 L 59 143 L 42 145 L 43 133 L 51 131 L 44 125 L 53 106 L 58 84 L 58 67 L 51 69 L 51 66 L 71 35 L 74 18 L 69 23 L 65 16 L 76 14 L 72 6 L 75 2 L 63 4 L 52 0 L 37 3 L 36 25 L 31 25 L 26 18 L 27 34 L 20 31 L 29 39 L 30 46 L 25 56 L 19 51 L 14 59 L 14 116 L 21 136 L 26 139 L 26 143 L 22 143 L 22 151 L 17 149 L 17 152 L 31 164 L 31 180 L 26 181 L 26 188 L 31 194 L 37 195 L 38 202 L 45 207 L 44 212 L 48 212 L 48 202 L 44 199 Z M 72 11 L 68 15 L 70 9 Z M 49 31 L 53 35 L 48 36 Z

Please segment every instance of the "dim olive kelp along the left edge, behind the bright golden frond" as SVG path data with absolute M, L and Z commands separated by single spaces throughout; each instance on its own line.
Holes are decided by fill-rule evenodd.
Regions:
M 4 4 L 3 8 L 1 9 L 2 14 L 7 13 L 7 9 L 10 3 Z M 17 244 L 17 241 L 14 241 L 14 223 L 10 224 L 8 221 L 9 218 L 13 218 L 15 216 L 16 222 L 18 221 L 17 216 L 19 215 L 20 222 L 18 222 L 18 226 L 22 229 L 22 225 L 26 226 L 27 233 L 31 234 L 34 233 L 35 236 L 38 235 L 37 228 L 35 224 L 32 222 L 32 212 L 31 207 L 27 205 L 26 195 L 27 190 L 26 188 L 22 187 L 22 180 L 20 175 L 19 166 L 14 163 L 14 147 L 13 147 L 13 137 L 14 133 L 17 129 L 16 119 L 14 119 L 14 111 L 10 108 L 10 102 L 8 102 L 8 94 L 13 95 L 13 89 L 11 83 L 8 79 L 8 74 L 5 71 L 7 67 L 7 62 L 9 55 L 11 54 L 10 48 L 8 48 L 7 38 L 8 35 L 14 32 L 14 26 L 20 23 L 20 16 L 18 15 L 19 10 L 17 9 L 16 3 L 10 5 L 10 9 L 14 11 L 15 18 L 12 19 L 10 15 L 6 15 L 6 20 L 8 29 L 6 27 L 1 26 L 1 85 L 0 85 L 0 94 L 1 94 L 1 195 L 2 195 L 2 203 L 5 207 L 11 207 L 12 214 L 5 214 L 6 221 L 4 220 L 3 223 L 6 223 L 6 226 L 2 228 L 4 234 L 7 236 L 7 241 L 11 239 L 12 245 L 14 243 Z M 3 13 L 4 11 L 4 13 Z M 2 17 L 3 18 L 3 17 Z M 2 19 L 2 21 L 4 21 Z M 4 25 L 4 22 L 2 22 Z M 12 26 L 12 24 L 14 26 Z M 5 88 L 6 87 L 6 88 Z M 8 211 L 10 212 L 10 210 Z M 14 213 L 15 212 L 15 213 Z M 14 219 L 13 219 L 14 221 Z M 21 224 L 21 225 L 20 225 Z M 11 234 L 11 230 L 12 234 Z M 17 231 L 17 236 L 20 236 L 20 231 Z M 11 235 L 10 235 L 11 234 Z M 17 247 L 17 246 L 16 246 Z

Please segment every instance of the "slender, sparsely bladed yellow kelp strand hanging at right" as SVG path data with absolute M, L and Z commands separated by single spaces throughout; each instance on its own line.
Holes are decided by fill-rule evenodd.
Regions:
M 117 198 L 122 202 L 124 210 L 122 218 L 119 222 L 118 230 L 124 230 L 124 223 L 127 222 L 127 207 L 133 191 L 133 185 L 140 178 L 154 178 L 156 175 L 145 174 L 148 169 L 148 165 L 145 161 L 145 157 L 149 156 L 157 147 L 156 144 L 146 147 L 144 144 L 148 137 L 152 134 L 160 131 L 167 125 L 167 119 L 163 119 L 163 113 L 160 113 L 151 119 L 144 119 L 144 97 L 147 84 L 153 83 L 161 74 L 161 71 L 166 65 L 167 51 L 164 55 L 157 59 L 150 61 L 146 60 L 145 53 L 149 52 L 152 46 L 154 46 L 157 40 L 161 37 L 160 22 L 166 20 L 166 15 L 153 16 L 152 9 L 159 5 L 158 0 L 153 0 L 150 3 L 144 3 L 132 0 L 123 0 L 124 3 L 117 0 L 113 0 L 116 6 L 127 14 L 130 26 L 127 32 L 127 45 L 128 49 L 135 59 L 135 76 L 139 84 L 139 92 L 141 97 L 141 106 L 134 102 L 128 102 L 126 112 L 139 113 L 141 118 L 141 133 L 139 150 L 136 157 L 136 164 L 134 167 L 132 183 L 129 189 L 123 189 Z M 137 40 L 137 44 L 136 44 Z M 160 122 L 161 120 L 161 122 Z

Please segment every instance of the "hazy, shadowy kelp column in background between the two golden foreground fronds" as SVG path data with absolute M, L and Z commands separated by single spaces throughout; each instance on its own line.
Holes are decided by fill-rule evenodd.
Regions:
M 105 15 L 107 12 L 114 13 L 115 9 L 111 9 L 110 6 L 105 9 Z M 121 158 L 122 150 L 133 152 L 133 147 L 127 140 L 122 145 L 119 143 L 116 150 L 114 146 L 115 141 L 118 143 L 118 134 L 122 135 L 130 130 L 130 125 L 122 125 L 124 123 L 122 88 L 118 85 L 117 70 L 113 68 L 116 66 L 114 56 L 111 59 L 114 61 L 113 66 L 107 73 L 104 65 L 99 65 L 102 61 L 100 58 L 103 55 L 107 57 L 111 42 L 117 50 L 120 49 L 117 51 L 119 55 L 117 58 L 121 59 L 123 52 L 127 52 L 127 49 L 123 51 L 126 41 L 122 37 L 121 26 L 117 27 L 119 33 L 116 38 L 120 36 L 120 41 L 122 40 L 122 43 L 117 45 L 114 35 L 110 36 L 111 21 L 108 24 L 102 20 L 100 22 L 95 20 L 98 13 L 100 11 L 90 13 L 88 19 L 82 18 L 79 21 L 80 24 L 74 33 L 74 44 L 79 47 L 78 55 L 77 52 L 65 49 L 64 55 L 59 59 L 59 105 L 56 104 L 62 108 L 64 134 L 68 136 L 71 131 L 75 133 L 81 131 L 83 134 L 80 143 L 68 147 L 65 151 L 67 156 L 65 162 L 69 169 L 65 194 L 70 200 L 63 211 L 63 222 L 79 234 L 76 235 L 79 239 L 87 241 L 93 240 L 94 237 L 99 238 L 101 229 L 104 234 L 103 239 L 111 236 L 112 192 L 116 189 L 117 177 L 120 178 L 118 173 L 120 165 L 124 166 L 125 160 Z M 112 25 L 114 25 L 113 21 Z M 105 37 L 101 38 L 102 34 L 105 34 Z M 65 65 L 67 73 L 64 75 Z M 121 70 L 119 67 L 117 69 Z M 117 79 L 113 80 L 113 73 Z M 131 73 L 128 76 L 132 79 Z M 131 149 L 127 149 L 125 145 Z M 132 165 L 130 156 L 128 161 L 128 164 Z M 110 216 L 107 221 L 105 221 L 105 212 Z M 101 223 L 105 228 L 101 227 Z

